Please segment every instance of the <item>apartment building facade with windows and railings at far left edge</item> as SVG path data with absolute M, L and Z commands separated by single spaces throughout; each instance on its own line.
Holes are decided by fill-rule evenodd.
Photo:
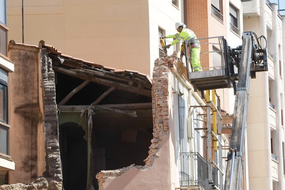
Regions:
M 8 58 L 8 31 L 6 16 L 6 1 L 0 2 L 0 185 L 8 183 L 8 172 L 15 169 L 15 162 L 11 159 L 9 133 L 11 126 L 9 103 L 10 82 L 9 73 L 14 71 L 14 63 Z

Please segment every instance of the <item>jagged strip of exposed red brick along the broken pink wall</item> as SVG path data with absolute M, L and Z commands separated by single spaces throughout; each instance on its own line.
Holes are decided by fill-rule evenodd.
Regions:
M 169 74 L 170 67 L 179 58 L 177 51 L 172 56 L 166 56 L 162 59 L 156 59 L 152 75 L 152 114 L 153 114 L 153 139 L 148 151 L 148 157 L 144 160 L 145 166 L 135 166 L 135 164 L 122 169 L 101 171 L 96 175 L 99 184 L 99 190 L 103 189 L 103 183 L 106 178 L 114 178 L 122 175 L 132 167 L 137 169 L 149 169 L 155 158 L 158 158 L 157 152 L 161 147 L 163 135 L 169 135 Z

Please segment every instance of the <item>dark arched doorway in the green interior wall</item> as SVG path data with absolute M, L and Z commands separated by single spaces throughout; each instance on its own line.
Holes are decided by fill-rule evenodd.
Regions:
M 67 122 L 59 126 L 60 158 L 63 187 L 65 190 L 86 189 L 87 141 L 85 131 L 77 123 Z

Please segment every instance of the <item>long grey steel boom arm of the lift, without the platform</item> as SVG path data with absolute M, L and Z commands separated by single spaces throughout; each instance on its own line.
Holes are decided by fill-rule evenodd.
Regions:
M 259 46 L 259 44 L 258 44 Z M 266 62 L 266 50 L 263 56 L 259 56 L 259 49 L 255 45 L 252 32 L 243 33 L 243 45 L 241 48 L 241 61 L 239 66 L 239 80 L 236 89 L 235 108 L 233 116 L 233 129 L 231 135 L 230 152 L 227 158 L 227 168 L 225 175 L 225 189 L 241 189 L 243 173 L 243 152 L 245 143 L 245 127 L 247 120 L 247 106 L 249 95 L 249 81 L 251 69 L 262 60 Z M 266 63 L 267 64 L 267 63 Z M 267 66 L 267 65 L 266 65 Z M 260 71 L 266 71 L 262 69 Z M 255 75 L 251 75 L 255 78 Z

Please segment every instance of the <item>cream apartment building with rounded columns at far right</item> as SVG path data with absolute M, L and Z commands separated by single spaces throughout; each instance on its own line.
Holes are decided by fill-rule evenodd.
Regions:
M 249 188 L 284 189 L 284 16 L 270 1 L 243 2 L 244 30 L 264 35 L 268 73 L 252 80 L 247 116 Z M 262 46 L 265 47 L 264 40 Z M 256 107 L 261 109 L 256 110 Z

